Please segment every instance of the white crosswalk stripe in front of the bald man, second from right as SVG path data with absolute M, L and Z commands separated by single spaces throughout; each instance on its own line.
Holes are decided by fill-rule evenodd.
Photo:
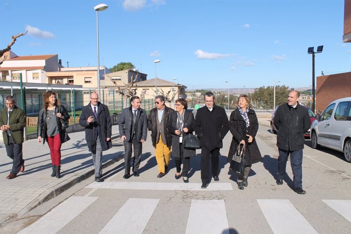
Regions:
M 317 233 L 289 200 L 257 199 L 257 202 L 275 234 Z

